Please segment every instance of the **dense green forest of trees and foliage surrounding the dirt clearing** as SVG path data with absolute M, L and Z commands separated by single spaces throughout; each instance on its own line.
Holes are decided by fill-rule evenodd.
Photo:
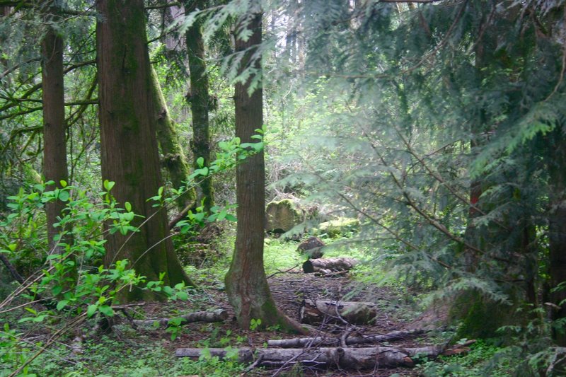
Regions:
M 163 299 L 168 285 L 183 298 L 194 269 L 175 250 L 209 223 L 235 231 L 242 214 L 259 225 L 238 234 L 246 226 L 260 246 L 235 255 L 261 263 L 263 214 L 235 186 L 256 182 L 243 174 L 265 158 L 265 202 L 318 213 L 288 236 L 359 220 L 349 242 L 376 266 L 365 281 L 448 308 L 461 337 L 505 338 L 535 365 L 518 374 L 560 375 L 563 1 L 135 3 L 0 1 L 0 255 L 23 279 L 42 274 L 21 284 L 30 297 L 89 316 L 111 315 L 114 299 Z M 256 267 L 265 289 L 231 289 L 244 274 L 226 280 L 229 294 L 269 301 Z M 8 312 L 24 292 L 3 268 Z M 87 293 L 65 296 L 77 281 Z M 254 308 L 236 310 L 243 327 L 285 323 Z

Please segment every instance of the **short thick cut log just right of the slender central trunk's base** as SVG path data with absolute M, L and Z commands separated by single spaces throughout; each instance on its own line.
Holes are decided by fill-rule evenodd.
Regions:
M 355 301 L 305 300 L 299 310 L 301 323 L 321 323 L 335 318 L 355 325 L 366 325 L 376 318 L 375 303 Z

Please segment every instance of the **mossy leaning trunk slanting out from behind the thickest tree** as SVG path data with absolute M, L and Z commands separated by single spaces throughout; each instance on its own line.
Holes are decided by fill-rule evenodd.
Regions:
M 163 165 L 169 173 L 171 185 L 178 189 L 186 186 L 185 181 L 190 175 L 189 164 L 183 148 L 179 143 L 179 137 L 175 130 L 175 123 L 169 115 L 169 109 L 155 69 L 151 69 L 151 79 L 153 81 L 154 105 L 156 111 L 157 140 L 161 147 Z M 195 202 L 195 190 L 187 187 L 187 192 L 176 200 L 180 210 Z

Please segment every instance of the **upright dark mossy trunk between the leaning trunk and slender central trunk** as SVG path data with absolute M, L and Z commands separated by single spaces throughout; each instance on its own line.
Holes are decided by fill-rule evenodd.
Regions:
M 184 4 L 185 14 L 189 14 L 195 9 L 203 9 L 207 1 L 184 1 Z M 192 110 L 192 153 L 196 169 L 200 168 L 197 164 L 200 157 L 204 159 L 204 166 L 209 166 L 210 163 L 209 81 L 200 19 L 187 29 L 185 37 L 190 70 L 190 93 L 187 95 L 187 102 Z M 202 180 L 200 190 L 197 190 L 197 203 L 201 202 L 205 211 L 214 206 L 214 190 L 210 177 Z

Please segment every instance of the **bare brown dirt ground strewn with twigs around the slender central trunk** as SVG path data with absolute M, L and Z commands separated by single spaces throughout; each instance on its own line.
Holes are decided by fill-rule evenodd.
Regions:
M 349 336 L 357 335 L 383 335 L 388 332 L 407 330 L 410 328 L 408 318 L 402 318 L 405 313 L 410 317 L 411 308 L 403 298 L 393 289 L 383 286 L 362 286 L 354 282 L 350 277 L 317 277 L 315 274 L 304 274 L 299 271 L 277 273 L 269 277 L 272 295 L 279 308 L 289 317 L 298 320 L 299 309 L 303 299 L 318 300 L 342 300 L 342 301 L 369 301 L 376 303 L 379 314 L 375 323 L 370 325 L 348 325 L 345 323 L 326 323 L 318 328 L 327 333 L 337 335 L 349 332 Z M 197 298 L 195 298 L 197 297 Z M 229 312 L 229 320 L 223 323 L 191 323 L 183 327 L 183 333 L 174 342 L 165 341 L 165 346 L 175 352 L 176 348 L 183 347 L 265 347 L 265 342 L 272 339 L 286 339 L 296 337 L 286 334 L 277 329 L 268 331 L 241 330 L 233 316 L 233 311 L 221 285 L 203 289 L 201 294 L 190 298 L 190 303 L 163 304 L 151 303 L 144 306 L 145 318 L 160 318 L 166 315 L 180 315 L 191 311 L 213 310 L 222 308 Z M 138 309 L 138 311 L 140 311 Z M 141 313 L 139 313 L 141 314 Z M 169 338 L 169 334 L 163 330 L 139 329 L 141 335 L 149 337 Z M 408 336 L 405 339 L 372 344 L 374 346 L 384 345 L 389 347 L 423 347 L 432 345 L 427 337 Z M 357 346 L 351 346 L 357 347 Z M 363 347 L 363 346 L 358 346 Z M 366 345 L 365 347 L 368 347 Z M 376 369 L 371 371 L 346 371 L 346 370 L 316 370 L 302 369 L 302 374 L 289 373 L 292 368 L 289 365 L 287 376 L 416 376 L 412 369 Z M 248 376 L 275 376 L 283 371 L 277 369 L 253 369 L 247 373 Z

